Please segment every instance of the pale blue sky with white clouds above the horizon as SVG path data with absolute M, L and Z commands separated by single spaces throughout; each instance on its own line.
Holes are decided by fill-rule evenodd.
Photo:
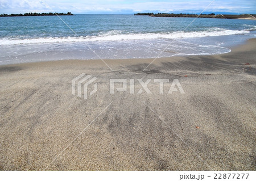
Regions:
M 67 12 L 73 14 L 134 14 L 167 12 L 200 14 L 213 0 L 0 0 L 0 14 Z M 255 0 L 215 0 L 205 11 L 256 14 Z

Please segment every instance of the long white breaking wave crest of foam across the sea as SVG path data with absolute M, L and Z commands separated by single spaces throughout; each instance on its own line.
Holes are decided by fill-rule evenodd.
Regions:
M 225 30 L 222 28 L 209 28 L 205 31 L 195 32 L 169 32 L 169 33 L 123 33 L 122 31 L 109 31 L 99 33 L 98 36 L 80 37 L 40 37 L 36 39 L 0 39 L 0 45 L 17 44 L 40 44 L 40 43 L 69 43 L 69 42 L 90 42 L 90 41 L 120 41 L 120 40 L 143 40 L 143 39 L 182 39 L 189 37 L 224 36 L 249 33 L 256 27 L 247 30 Z

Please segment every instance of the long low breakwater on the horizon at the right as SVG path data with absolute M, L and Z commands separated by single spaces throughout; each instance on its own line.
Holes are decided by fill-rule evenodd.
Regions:
M 241 14 L 241 15 L 222 15 L 218 14 L 215 15 L 214 13 L 212 14 L 174 14 L 174 13 L 158 13 L 154 14 L 152 12 L 146 12 L 146 13 L 137 13 L 134 14 L 135 16 L 152 16 L 152 17 L 180 17 L 180 18 L 196 18 L 199 16 L 199 18 L 220 18 L 220 19 L 256 19 L 255 16 L 256 14 Z

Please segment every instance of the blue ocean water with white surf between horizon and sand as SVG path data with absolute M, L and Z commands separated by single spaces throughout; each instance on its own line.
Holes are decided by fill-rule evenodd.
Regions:
M 0 18 L 0 65 L 49 60 L 155 58 L 230 52 L 256 21 L 134 15 Z M 175 40 L 175 41 L 174 41 Z M 89 47 L 88 47 L 89 46 Z M 96 55 L 96 52 L 98 56 Z

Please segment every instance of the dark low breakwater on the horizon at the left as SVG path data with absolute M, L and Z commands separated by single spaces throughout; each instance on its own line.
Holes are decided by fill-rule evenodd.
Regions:
M 58 13 L 58 12 L 49 12 L 49 13 L 32 13 L 32 12 L 27 12 L 25 14 L 1 14 L 0 17 L 14 17 L 14 16 L 72 16 L 73 14 L 71 12 L 68 13 Z

